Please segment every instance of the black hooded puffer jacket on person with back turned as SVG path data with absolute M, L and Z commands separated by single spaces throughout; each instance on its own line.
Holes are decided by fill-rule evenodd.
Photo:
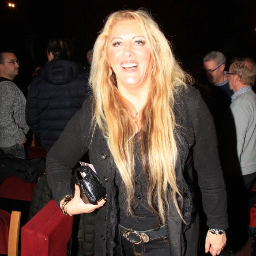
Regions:
M 48 151 L 88 93 L 83 67 L 70 60 L 52 60 L 38 70 L 26 102 L 26 122 Z

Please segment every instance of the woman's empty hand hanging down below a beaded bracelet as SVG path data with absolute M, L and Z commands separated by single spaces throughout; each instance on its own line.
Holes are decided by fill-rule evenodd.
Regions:
M 226 245 L 226 241 L 226 233 L 216 235 L 208 231 L 205 239 L 205 253 L 210 252 L 212 256 L 219 255 Z

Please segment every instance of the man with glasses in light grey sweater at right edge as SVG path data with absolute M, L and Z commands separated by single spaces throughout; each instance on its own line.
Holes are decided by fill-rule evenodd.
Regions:
M 249 193 L 256 179 L 256 64 L 251 58 L 236 59 L 227 73 L 234 94 L 222 129 L 223 173 L 229 202 L 230 247 L 241 248 L 248 237 Z M 233 248 L 232 248 L 233 247 Z

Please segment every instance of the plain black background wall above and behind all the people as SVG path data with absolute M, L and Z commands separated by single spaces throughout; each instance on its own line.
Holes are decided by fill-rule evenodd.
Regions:
M 234 56 L 256 59 L 255 0 L 15 0 L 0 1 L 0 49 L 15 49 L 20 60 L 19 82 L 26 90 L 34 65 L 46 61 L 50 38 L 70 38 L 75 60 L 86 63 L 104 20 L 113 11 L 147 8 L 173 43 L 184 68 L 200 73 L 203 56 L 222 51 L 227 67 Z

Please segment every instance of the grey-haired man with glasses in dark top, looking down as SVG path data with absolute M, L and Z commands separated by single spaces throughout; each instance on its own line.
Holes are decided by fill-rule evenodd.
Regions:
M 211 102 L 207 103 L 211 106 L 217 133 L 222 123 L 223 113 L 230 105 L 233 95 L 233 90 L 230 89 L 228 77 L 224 71 L 225 64 L 226 57 L 218 51 L 211 51 L 203 57 L 203 68 L 209 83 L 211 83 Z

